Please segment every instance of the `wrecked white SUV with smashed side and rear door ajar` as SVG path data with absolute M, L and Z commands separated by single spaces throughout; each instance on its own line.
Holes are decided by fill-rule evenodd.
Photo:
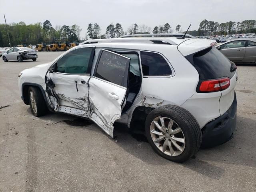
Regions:
M 35 116 L 48 110 L 88 118 L 113 137 L 114 122 L 144 132 L 160 156 L 184 162 L 232 138 L 236 66 L 212 40 L 88 40 L 19 74 Z

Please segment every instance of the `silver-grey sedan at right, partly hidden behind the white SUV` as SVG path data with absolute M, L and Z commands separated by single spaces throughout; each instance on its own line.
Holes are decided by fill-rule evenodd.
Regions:
M 256 63 L 256 38 L 234 39 L 216 48 L 234 63 Z

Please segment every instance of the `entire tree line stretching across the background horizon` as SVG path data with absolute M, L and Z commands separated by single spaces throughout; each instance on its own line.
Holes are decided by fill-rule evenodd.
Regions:
M 187 27 L 187 26 L 186 26 Z M 150 34 L 150 33 L 184 33 L 181 25 L 176 27 L 169 23 L 155 26 L 153 29 L 145 24 L 138 25 L 136 23 L 128 27 L 124 31 L 120 23 L 111 23 L 106 30 L 102 31 L 98 23 L 88 24 L 86 39 L 98 38 L 118 38 L 127 34 Z M 0 47 L 8 46 L 7 31 L 10 35 L 12 45 L 18 45 L 21 42 L 28 44 L 38 44 L 40 42 L 54 42 L 59 40 L 80 40 L 82 28 L 74 24 L 72 26 L 52 26 L 49 20 L 38 22 L 36 24 L 26 25 L 24 22 L 12 23 L 6 26 L 0 24 Z M 184 30 L 186 31 L 186 29 Z M 188 34 L 193 36 L 207 36 L 207 35 L 223 35 L 223 34 L 240 34 L 240 33 L 255 33 L 256 20 L 244 20 L 242 22 L 229 21 L 226 23 L 203 20 L 199 24 L 198 30 L 188 31 Z

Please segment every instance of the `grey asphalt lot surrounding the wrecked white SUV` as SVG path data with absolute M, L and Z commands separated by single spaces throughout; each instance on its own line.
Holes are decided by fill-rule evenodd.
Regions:
M 256 191 L 255 64 L 238 66 L 234 138 L 178 164 L 122 126 L 113 140 L 76 117 L 34 117 L 20 99 L 18 73 L 61 53 L 38 52 L 36 62 L 0 58 L 0 106 L 10 105 L 0 109 L 0 192 Z

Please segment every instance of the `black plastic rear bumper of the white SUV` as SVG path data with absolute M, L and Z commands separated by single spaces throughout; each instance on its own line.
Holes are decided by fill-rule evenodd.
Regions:
M 230 108 L 220 117 L 208 122 L 202 128 L 201 148 L 214 147 L 227 142 L 234 136 L 236 128 L 236 93 Z

